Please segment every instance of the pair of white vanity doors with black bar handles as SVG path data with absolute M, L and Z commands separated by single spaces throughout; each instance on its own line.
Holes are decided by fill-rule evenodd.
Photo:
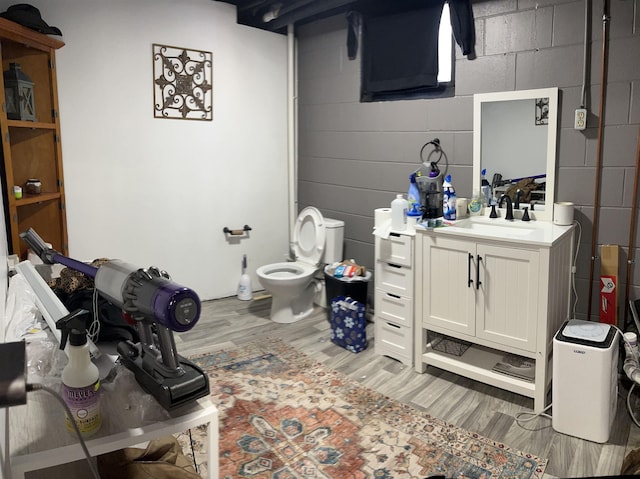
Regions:
M 537 249 L 434 235 L 422 254 L 423 323 L 535 351 Z

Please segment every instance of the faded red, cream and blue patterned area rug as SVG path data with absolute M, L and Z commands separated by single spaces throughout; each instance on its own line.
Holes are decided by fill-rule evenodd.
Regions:
M 191 358 L 220 412 L 220 479 L 541 478 L 547 461 L 392 400 L 278 339 Z M 202 467 L 203 431 L 178 439 Z

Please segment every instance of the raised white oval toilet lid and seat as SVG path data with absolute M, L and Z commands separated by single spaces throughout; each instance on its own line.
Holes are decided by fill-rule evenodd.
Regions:
M 318 265 L 324 253 L 325 225 L 322 213 L 307 206 L 298 215 L 293 229 L 293 252 L 297 261 Z

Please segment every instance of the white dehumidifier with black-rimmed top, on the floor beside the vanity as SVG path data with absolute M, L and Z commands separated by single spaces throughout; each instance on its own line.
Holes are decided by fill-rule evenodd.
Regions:
M 618 395 L 617 330 L 572 319 L 553 338 L 552 426 L 557 432 L 607 442 Z

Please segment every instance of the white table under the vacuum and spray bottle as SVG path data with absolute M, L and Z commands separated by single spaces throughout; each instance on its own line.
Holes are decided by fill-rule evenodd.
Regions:
M 125 370 L 125 373 L 129 372 Z M 206 425 L 209 479 L 217 479 L 218 410 L 209 398 L 167 413 L 153 398 L 142 393 L 136 383 L 131 382 L 129 386 L 111 391 L 108 386 L 103 388 L 103 424 L 86 439 L 91 456 Z M 28 471 L 84 460 L 77 437 L 65 428 L 62 405 L 49 393 L 30 392 L 26 405 L 5 411 L 13 479 L 24 479 Z

